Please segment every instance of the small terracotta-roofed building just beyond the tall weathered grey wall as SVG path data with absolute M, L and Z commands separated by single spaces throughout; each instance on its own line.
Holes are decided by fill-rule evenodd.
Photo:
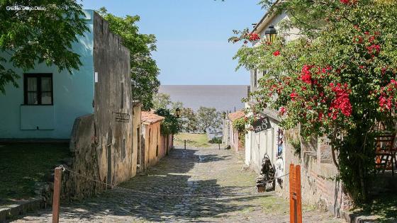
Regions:
M 161 134 L 164 117 L 152 112 L 142 111 L 141 152 L 138 160 L 139 172 L 154 166 L 174 147 L 173 135 Z

